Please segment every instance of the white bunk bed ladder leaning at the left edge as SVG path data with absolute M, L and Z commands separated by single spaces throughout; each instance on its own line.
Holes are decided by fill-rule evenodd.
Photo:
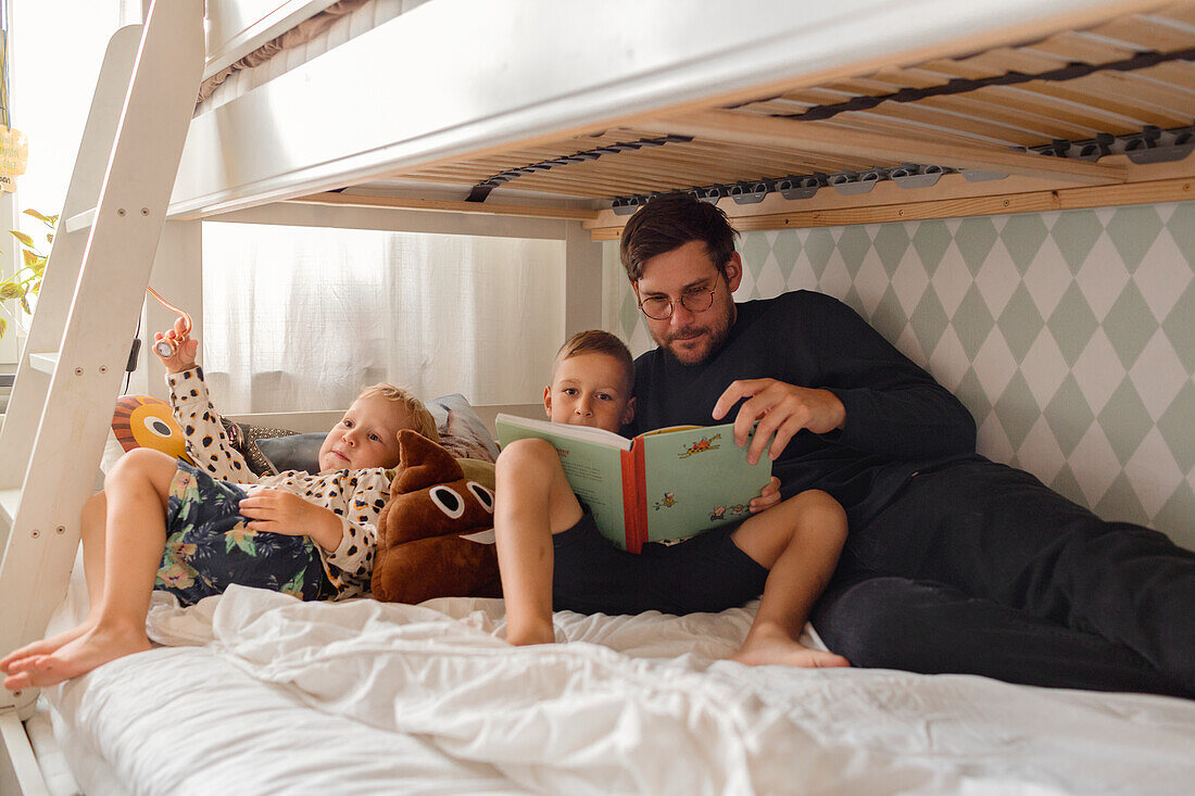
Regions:
M 203 0 L 155 1 L 104 56 L 0 427 L 0 654 L 41 638 L 66 594 L 203 60 Z M 44 786 L 19 723 L 36 696 L 0 688 L 2 792 Z

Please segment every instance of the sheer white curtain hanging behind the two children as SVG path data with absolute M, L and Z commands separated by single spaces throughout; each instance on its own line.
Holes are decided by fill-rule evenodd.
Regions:
M 366 384 L 540 399 L 564 243 L 203 225 L 201 361 L 221 411 L 343 409 Z

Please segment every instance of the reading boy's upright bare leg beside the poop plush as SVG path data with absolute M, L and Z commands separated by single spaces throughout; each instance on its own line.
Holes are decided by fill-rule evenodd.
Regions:
M 494 533 L 502 594 L 507 604 L 507 642 L 516 647 L 550 644 L 552 629 L 552 534 L 582 516 L 556 449 L 544 440 L 517 440 L 502 451 L 495 467 Z

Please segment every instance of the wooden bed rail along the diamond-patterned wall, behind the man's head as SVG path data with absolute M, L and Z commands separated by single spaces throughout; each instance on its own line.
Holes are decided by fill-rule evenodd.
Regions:
M 741 215 L 731 218 L 730 222 L 740 232 L 799 229 L 804 227 L 839 227 L 852 224 L 955 219 L 974 215 L 1047 213 L 1050 210 L 1076 210 L 1124 204 L 1156 204 L 1159 202 L 1184 202 L 1193 200 L 1195 200 L 1195 179 L 1185 177 L 1130 183 L 1127 185 L 1067 188 L 1050 191 L 932 200 L 905 204 L 822 208 L 817 210 L 771 213 L 766 215 Z M 618 240 L 623 232 L 623 225 L 626 224 L 627 219 L 630 216 L 621 216 L 617 224 L 611 226 L 590 228 L 593 239 Z

